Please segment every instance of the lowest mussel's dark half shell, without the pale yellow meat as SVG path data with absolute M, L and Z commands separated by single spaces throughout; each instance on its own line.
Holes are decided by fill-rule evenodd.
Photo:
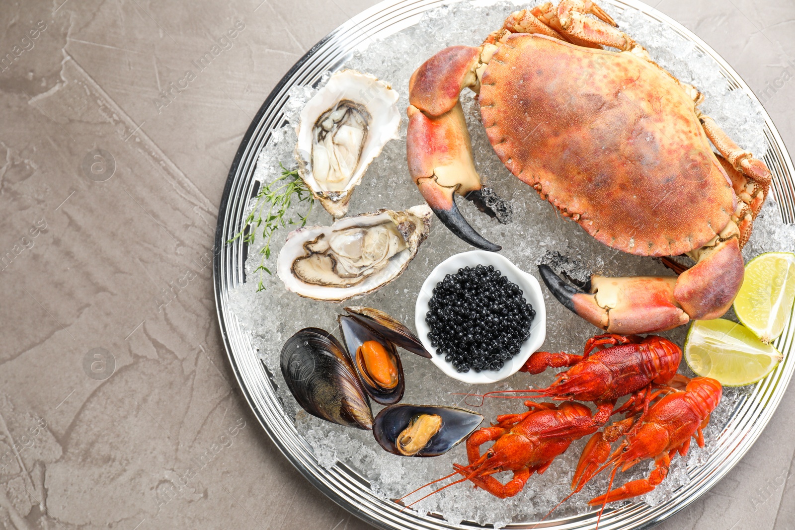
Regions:
M 386 451 L 401 455 L 400 451 L 397 451 L 395 440 L 417 414 L 438 414 L 442 417 L 442 427 L 436 435 L 433 435 L 428 445 L 414 456 L 444 455 L 471 435 L 483 421 L 483 416 L 465 408 L 394 404 L 383 408 L 378 412 L 378 416 L 375 416 L 373 424 L 375 441 Z

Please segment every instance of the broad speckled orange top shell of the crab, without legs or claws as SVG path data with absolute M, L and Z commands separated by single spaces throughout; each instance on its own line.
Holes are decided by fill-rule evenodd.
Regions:
M 511 35 L 483 73 L 479 103 L 510 172 L 607 246 L 685 253 L 735 211 L 693 100 L 631 52 Z

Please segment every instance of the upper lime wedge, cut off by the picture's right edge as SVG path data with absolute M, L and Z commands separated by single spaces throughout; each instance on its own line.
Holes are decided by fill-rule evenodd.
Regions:
M 743 326 L 762 342 L 781 335 L 795 300 L 795 254 L 759 254 L 746 265 L 743 287 L 735 299 L 735 313 Z

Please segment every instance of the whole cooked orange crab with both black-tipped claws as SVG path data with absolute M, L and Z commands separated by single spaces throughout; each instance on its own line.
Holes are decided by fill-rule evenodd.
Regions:
M 440 220 L 486 250 L 500 247 L 454 200 L 478 202 L 483 188 L 459 102 L 464 87 L 478 93 L 498 157 L 562 215 L 615 249 L 696 261 L 675 269 L 678 277 L 593 277 L 588 292 L 542 267 L 566 307 L 620 334 L 727 311 L 770 171 L 701 114 L 695 87 L 588 0 L 518 11 L 482 45 L 432 56 L 409 81 L 409 172 Z

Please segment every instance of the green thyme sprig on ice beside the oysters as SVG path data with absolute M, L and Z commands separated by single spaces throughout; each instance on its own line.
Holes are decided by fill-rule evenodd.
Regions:
M 298 170 L 286 169 L 285 166 L 281 165 L 281 162 L 279 166 L 281 167 L 281 176 L 278 176 L 269 184 L 262 185 L 262 189 L 257 194 L 257 203 L 254 204 L 254 210 L 246 217 L 242 230 L 228 241 L 231 243 L 235 239 L 242 238 L 244 242 L 251 245 L 254 243 L 254 239 L 262 226 L 262 238 L 265 239 L 265 246 L 259 250 L 261 255 L 259 265 L 254 269 L 254 272 L 259 273 L 257 292 L 265 289 L 265 285 L 262 284 L 262 273 L 273 274 L 265 266 L 265 261 L 270 259 L 270 240 L 273 238 L 273 232 L 280 227 L 288 225 L 300 223 L 301 226 L 306 226 L 306 220 L 315 205 L 315 198 L 306 188 L 301 177 L 298 176 Z M 293 201 L 296 203 L 309 203 L 308 210 L 303 214 L 288 215 Z M 295 216 L 297 216 L 297 219 L 295 219 Z M 246 234 L 246 230 L 248 230 L 248 234 Z

